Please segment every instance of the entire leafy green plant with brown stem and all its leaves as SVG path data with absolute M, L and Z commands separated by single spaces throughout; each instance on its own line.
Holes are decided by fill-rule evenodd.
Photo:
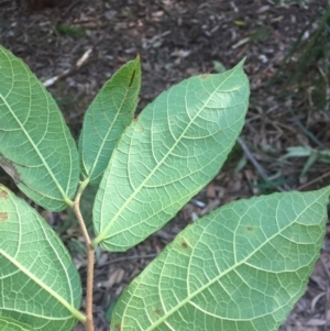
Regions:
M 95 250 L 125 252 L 219 172 L 249 103 L 243 60 L 161 93 L 136 118 L 139 56 L 86 111 L 78 146 L 52 96 L 0 48 L 0 165 L 48 211 L 73 209 L 87 247 L 81 283 L 55 231 L 0 186 L 0 330 L 94 330 Z M 80 198 L 97 186 L 88 233 Z M 128 286 L 111 331 L 277 330 L 320 254 L 330 188 L 238 200 L 200 218 Z

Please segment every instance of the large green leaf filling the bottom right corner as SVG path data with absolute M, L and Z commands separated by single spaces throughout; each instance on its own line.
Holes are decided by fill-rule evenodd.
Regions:
M 240 200 L 187 227 L 122 294 L 110 330 L 278 330 L 319 256 L 329 192 Z

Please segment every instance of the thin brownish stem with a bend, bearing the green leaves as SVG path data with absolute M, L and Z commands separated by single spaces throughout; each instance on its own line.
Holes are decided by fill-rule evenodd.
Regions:
M 86 249 L 87 249 L 86 329 L 87 331 L 95 331 L 94 322 L 92 322 L 92 283 L 94 283 L 95 249 L 90 245 L 90 238 L 86 229 L 84 218 L 81 216 L 80 208 L 79 208 L 80 197 L 87 185 L 88 185 L 88 179 L 86 179 L 80 184 L 74 203 L 74 211 L 78 220 L 79 227 L 81 229 L 85 243 L 86 243 Z

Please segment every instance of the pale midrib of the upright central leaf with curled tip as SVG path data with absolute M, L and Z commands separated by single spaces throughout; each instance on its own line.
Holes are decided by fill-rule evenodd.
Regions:
M 109 224 L 105 228 L 103 231 L 101 231 L 98 236 L 94 240 L 92 245 L 96 246 L 99 244 L 102 240 L 107 240 L 106 238 L 107 232 L 112 227 L 112 224 L 117 221 L 117 219 L 120 217 L 121 212 L 131 203 L 131 201 L 134 199 L 134 197 L 140 192 L 142 187 L 150 180 L 150 178 L 156 173 L 156 170 L 163 165 L 163 163 L 166 161 L 168 155 L 170 155 L 172 151 L 175 150 L 175 147 L 178 145 L 178 143 L 182 141 L 182 137 L 185 135 L 185 133 L 188 131 L 190 125 L 194 123 L 195 119 L 200 114 L 200 112 L 204 111 L 206 108 L 206 104 L 209 102 L 209 100 L 218 92 L 218 90 L 221 88 L 221 86 L 230 78 L 232 77 L 237 70 L 233 70 L 231 75 L 229 75 L 221 84 L 218 86 L 218 88 L 209 96 L 209 98 L 205 101 L 204 106 L 200 108 L 200 110 L 195 114 L 194 118 L 190 119 L 190 122 L 187 124 L 185 130 L 182 132 L 179 137 L 176 140 L 176 142 L 173 144 L 173 146 L 168 150 L 168 152 L 164 155 L 164 157 L 161 159 L 161 162 L 154 167 L 154 169 L 150 173 L 148 176 L 145 177 L 145 179 L 140 184 L 140 186 L 136 188 L 136 190 L 131 195 L 129 199 L 125 200 L 125 202 L 122 205 L 122 207 L 118 210 L 118 212 L 113 216 L 112 220 L 109 222 Z M 189 84 L 189 81 L 188 81 Z M 186 88 L 187 89 L 187 88 Z M 168 109 L 167 109 L 168 110 Z M 111 236 L 110 236 L 111 238 Z

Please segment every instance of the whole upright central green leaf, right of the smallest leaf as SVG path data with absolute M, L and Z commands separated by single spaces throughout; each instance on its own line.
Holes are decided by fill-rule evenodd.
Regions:
M 130 249 L 217 175 L 244 123 L 242 66 L 172 87 L 124 131 L 97 194 L 94 245 Z

